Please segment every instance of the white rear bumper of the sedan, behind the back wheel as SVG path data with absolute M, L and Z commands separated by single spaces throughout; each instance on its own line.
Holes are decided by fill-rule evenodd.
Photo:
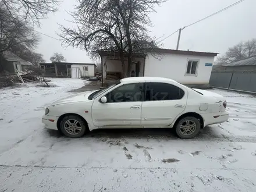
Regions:
M 204 113 L 201 114 L 201 116 L 204 119 L 204 126 L 223 123 L 229 119 L 229 113 L 226 111 L 219 113 Z

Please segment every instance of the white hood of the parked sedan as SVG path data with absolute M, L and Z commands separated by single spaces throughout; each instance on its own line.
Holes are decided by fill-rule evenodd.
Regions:
M 83 93 L 79 93 L 79 94 L 76 94 L 76 95 L 72 95 L 72 96 L 69 96 L 69 97 L 58 99 L 57 101 L 54 101 L 52 103 L 52 105 L 67 104 L 67 103 L 70 103 L 70 102 L 90 101 L 88 99 L 88 97 L 89 97 L 90 94 L 94 93 L 95 91 L 98 91 L 98 90 L 86 91 L 86 92 L 83 92 Z

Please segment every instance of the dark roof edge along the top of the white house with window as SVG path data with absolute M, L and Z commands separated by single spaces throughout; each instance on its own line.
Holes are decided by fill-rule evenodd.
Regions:
M 179 55 L 196 55 L 196 56 L 217 56 L 219 53 L 214 52 L 199 52 L 199 51 L 183 51 L 183 50 L 175 50 L 175 49 L 145 49 L 147 52 L 155 52 L 159 54 L 179 54 Z

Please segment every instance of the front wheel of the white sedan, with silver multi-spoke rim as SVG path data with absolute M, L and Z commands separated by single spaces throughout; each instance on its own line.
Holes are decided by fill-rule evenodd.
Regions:
M 62 133 L 70 138 L 83 137 L 87 132 L 87 124 L 84 119 L 76 115 L 65 116 L 60 123 Z

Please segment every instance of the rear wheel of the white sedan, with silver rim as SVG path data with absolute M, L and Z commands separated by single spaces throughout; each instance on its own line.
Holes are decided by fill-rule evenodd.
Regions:
M 193 138 L 200 132 L 200 121 L 193 116 L 182 118 L 177 123 L 175 129 L 180 138 Z

